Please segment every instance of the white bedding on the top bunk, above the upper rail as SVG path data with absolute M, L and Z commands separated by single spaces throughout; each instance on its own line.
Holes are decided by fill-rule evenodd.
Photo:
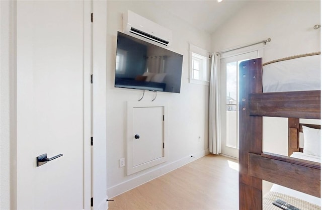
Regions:
M 263 92 L 320 89 L 320 55 L 279 61 L 263 66 Z

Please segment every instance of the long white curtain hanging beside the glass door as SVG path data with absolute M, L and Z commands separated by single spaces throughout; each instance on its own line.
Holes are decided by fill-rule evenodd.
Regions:
M 219 87 L 220 87 L 220 54 L 212 54 L 210 72 L 210 96 L 209 96 L 209 151 L 213 154 L 221 152 L 220 141 L 220 110 L 219 110 Z

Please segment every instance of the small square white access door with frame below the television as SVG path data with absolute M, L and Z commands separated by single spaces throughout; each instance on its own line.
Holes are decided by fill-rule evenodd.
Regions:
M 128 102 L 128 175 L 167 160 L 165 113 L 163 103 Z

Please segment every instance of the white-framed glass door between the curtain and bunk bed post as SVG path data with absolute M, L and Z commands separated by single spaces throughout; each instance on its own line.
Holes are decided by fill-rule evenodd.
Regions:
M 238 66 L 258 51 L 220 59 L 221 153 L 238 158 Z

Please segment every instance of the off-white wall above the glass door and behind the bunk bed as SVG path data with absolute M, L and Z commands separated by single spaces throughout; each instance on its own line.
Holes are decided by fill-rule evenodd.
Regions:
M 271 38 L 263 62 L 320 51 L 319 1 L 251 1 L 212 35 L 215 52 Z M 287 119 L 264 118 L 263 150 L 287 155 Z M 280 146 L 280 147 L 277 147 Z

